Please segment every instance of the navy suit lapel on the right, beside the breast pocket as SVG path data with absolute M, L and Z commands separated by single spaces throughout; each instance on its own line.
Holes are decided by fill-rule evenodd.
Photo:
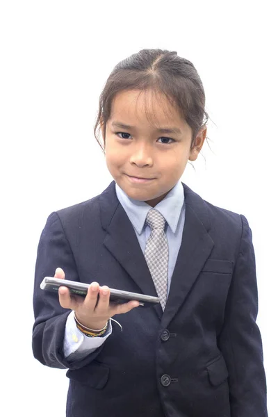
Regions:
M 170 293 L 162 318 L 163 327 L 167 327 L 186 300 L 214 245 L 208 234 L 210 221 L 206 204 L 185 184 L 183 190 L 186 199 L 186 218 Z

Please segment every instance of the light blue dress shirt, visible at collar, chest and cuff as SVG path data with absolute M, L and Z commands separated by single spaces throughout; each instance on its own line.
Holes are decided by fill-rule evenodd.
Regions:
M 140 244 L 143 254 L 145 253 L 145 246 L 151 234 L 151 229 L 145 223 L 147 213 L 151 206 L 145 202 L 131 199 L 117 183 L 115 186 L 117 198 L 122 204 L 126 215 L 129 217 L 131 224 L 136 232 L 138 242 Z M 183 233 L 183 225 L 186 215 L 186 204 L 184 200 L 183 186 L 179 181 L 172 190 L 164 197 L 164 199 L 156 204 L 154 207 L 158 210 L 166 220 L 165 234 L 167 236 L 169 259 L 168 259 L 168 285 L 167 294 L 169 294 L 172 273 L 174 265 L 177 261 L 179 248 L 181 246 L 181 238 Z M 64 338 L 64 354 L 69 357 L 69 360 L 79 360 L 86 357 L 90 352 L 93 352 L 97 347 L 101 346 L 106 338 L 112 332 L 111 321 L 106 331 L 106 336 L 89 338 L 84 336 L 82 332 L 76 327 L 74 320 L 74 311 L 67 317 Z

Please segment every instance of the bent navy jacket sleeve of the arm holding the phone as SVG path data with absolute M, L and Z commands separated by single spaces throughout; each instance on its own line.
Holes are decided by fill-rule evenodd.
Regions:
M 56 268 L 65 271 L 65 278 L 79 281 L 74 255 L 68 242 L 58 213 L 51 213 L 40 236 L 35 264 L 35 282 L 33 293 L 32 348 L 35 359 L 52 368 L 79 369 L 90 363 L 101 347 L 89 353 L 85 358 L 69 360 L 65 357 L 64 337 L 67 317 L 72 310 L 60 306 L 58 295 L 43 291 L 40 283 L 44 277 L 54 277 Z

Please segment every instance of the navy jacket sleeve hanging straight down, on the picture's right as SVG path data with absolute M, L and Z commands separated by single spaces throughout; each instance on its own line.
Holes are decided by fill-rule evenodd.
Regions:
M 242 236 L 218 343 L 229 371 L 231 417 L 267 417 L 252 231 L 240 217 Z

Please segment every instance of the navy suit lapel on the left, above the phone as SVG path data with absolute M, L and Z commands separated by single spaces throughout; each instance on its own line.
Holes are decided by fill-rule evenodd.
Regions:
M 99 196 L 101 224 L 106 230 L 104 245 L 122 265 L 138 286 L 138 292 L 157 297 L 154 281 L 147 267 L 145 256 L 136 232 L 117 199 L 113 181 Z M 158 317 L 162 316 L 161 305 L 154 307 Z

